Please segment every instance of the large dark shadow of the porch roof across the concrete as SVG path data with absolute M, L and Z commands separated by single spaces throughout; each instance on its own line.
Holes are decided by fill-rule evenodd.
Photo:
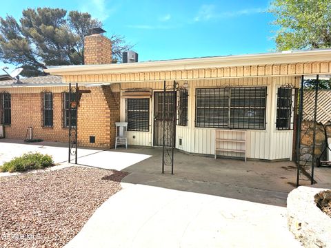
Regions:
M 286 205 L 288 193 L 295 188 L 297 167 L 291 161 L 240 161 L 184 154 L 174 155 L 174 175 L 170 167 L 161 174 L 160 148 L 133 147 L 121 152 L 148 154 L 150 158 L 123 169 L 130 172 L 124 183 L 135 183 L 223 196 L 268 205 Z

